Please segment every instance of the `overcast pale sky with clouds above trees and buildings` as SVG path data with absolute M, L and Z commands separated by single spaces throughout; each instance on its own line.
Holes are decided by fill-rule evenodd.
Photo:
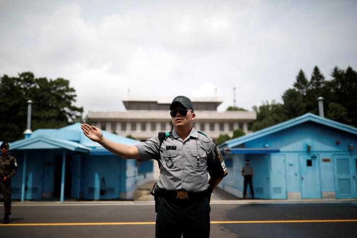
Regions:
M 357 70 L 356 0 L 0 0 L 0 75 L 65 78 L 76 106 L 130 96 L 281 102 L 300 69 Z M 35 105 L 34 105 L 35 106 Z

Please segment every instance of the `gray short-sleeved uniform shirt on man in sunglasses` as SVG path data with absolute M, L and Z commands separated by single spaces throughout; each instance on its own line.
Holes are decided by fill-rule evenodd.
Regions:
M 141 161 L 158 158 L 159 145 L 157 136 L 135 145 Z M 221 166 L 221 162 L 214 163 L 216 157 L 216 145 L 210 138 L 192 128 L 188 137 L 182 140 L 174 130 L 160 147 L 161 168 L 157 184 L 165 190 L 204 191 L 208 187 L 208 164 Z

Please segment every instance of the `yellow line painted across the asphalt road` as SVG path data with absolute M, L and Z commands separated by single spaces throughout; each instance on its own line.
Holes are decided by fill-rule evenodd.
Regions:
M 211 221 L 211 224 L 257 224 L 257 223 L 319 223 L 357 222 L 357 219 L 343 220 L 271 220 L 271 221 Z M 69 223 L 10 223 L 0 226 L 113 226 L 113 225 L 154 225 L 155 222 L 69 222 Z

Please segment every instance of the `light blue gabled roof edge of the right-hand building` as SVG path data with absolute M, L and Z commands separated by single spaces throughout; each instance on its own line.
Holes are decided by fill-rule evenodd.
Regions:
M 252 141 L 254 139 L 258 139 L 260 137 L 263 137 L 263 136 L 266 136 L 266 135 L 269 135 L 272 133 L 280 132 L 282 130 L 291 128 L 293 126 L 296 126 L 296 125 L 299 125 L 299 124 L 302 124 L 305 122 L 314 122 L 314 123 L 318 123 L 318 124 L 321 124 L 321 125 L 324 125 L 327 127 L 331 127 L 331 128 L 343 131 L 343 132 L 348 132 L 348 133 L 357 135 L 357 128 L 355 128 L 355 127 L 348 126 L 346 124 L 339 123 L 339 122 L 330 120 L 325 117 L 320 117 L 320 116 L 317 116 L 312 113 L 306 113 L 302 116 L 293 118 L 293 119 L 285 121 L 285 122 L 281 122 L 277 125 L 262 129 L 260 131 L 253 132 L 248 135 L 244 135 L 244 136 L 241 136 L 238 138 L 228 140 L 225 143 L 222 143 L 221 145 L 219 145 L 219 148 L 221 150 L 223 150 L 224 148 L 234 148 L 235 146 L 241 145 L 248 141 Z

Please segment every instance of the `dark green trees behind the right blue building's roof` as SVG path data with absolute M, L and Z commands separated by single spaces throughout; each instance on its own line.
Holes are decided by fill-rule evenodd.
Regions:
M 317 66 L 310 80 L 303 70 L 296 76 L 293 88 L 281 96 L 283 104 L 272 101 L 254 106 L 257 118 L 252 130 L 260 130 L 307 112 L 318 114 L 317 98 L 324 97 L 325 116 L 332 120 L 357 127 L 357 72 L 351 67 L 341 70 L 335 67 L 330 80 L 325 80 Z

